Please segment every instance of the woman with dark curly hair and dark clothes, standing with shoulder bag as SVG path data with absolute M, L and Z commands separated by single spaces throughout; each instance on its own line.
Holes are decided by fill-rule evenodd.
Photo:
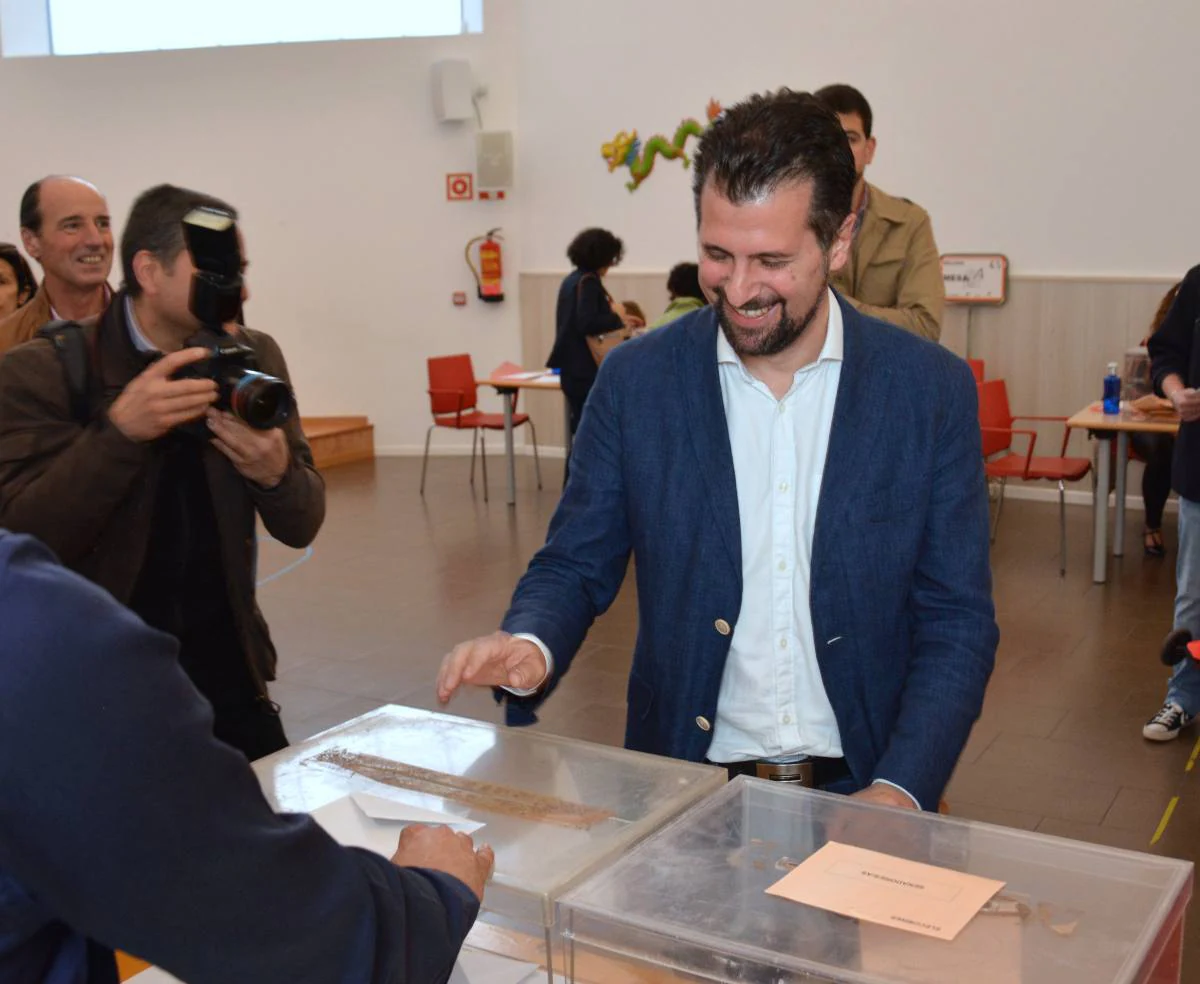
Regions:
M 620 263 L 624 245 L 607 229 L 584 229 L 566 247 L 575 268 L 558 288 L 554 348 L 546 365 L 559 371 L 571 414 L 571 434 L 604 356 L 629 337 L 625 312 L 605 290 L 601 277 Z

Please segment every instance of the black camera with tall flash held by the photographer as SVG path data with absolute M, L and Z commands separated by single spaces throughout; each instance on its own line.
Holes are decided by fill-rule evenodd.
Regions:
M 217 384 L 214 406 L 257 431 L 281 426 L 295 413 L 290 388 L 259 372 L 254 349 L 224 330 L 241 313 L 241 247 L 233 216 L 193 209 L 184 216 L 184 241 L 196 266 L 188 307 L 202 325 L 185 347 L 206 348 L 209 358 L 184 367 L 176 378 L 211 379 Z

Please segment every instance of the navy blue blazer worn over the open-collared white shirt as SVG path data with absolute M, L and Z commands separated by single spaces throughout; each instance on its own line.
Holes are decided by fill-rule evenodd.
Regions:
M 998 630 L 976 385 L 966 362 L 839 298 L 841 382 L 812 542 L 814 641 L 858 786 L 935 809 L 979 715 Z M 570 670 L 636 558 L 625 744 L 702 761 L 742 607 L 742 544 L 712 308 L 604 362 L 546 545 L 504 629 Z

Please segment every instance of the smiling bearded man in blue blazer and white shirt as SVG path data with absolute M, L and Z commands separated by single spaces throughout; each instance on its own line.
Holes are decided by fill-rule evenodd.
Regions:
M 532 720 L 636 558 L 625 743 L 935 809 L 998 631 L 974 382 L 829 289 L 854 162 L 829 110 L 732 107 L 694 161 L 712 306 L 622 346 L 503 630 L 438 695 Z

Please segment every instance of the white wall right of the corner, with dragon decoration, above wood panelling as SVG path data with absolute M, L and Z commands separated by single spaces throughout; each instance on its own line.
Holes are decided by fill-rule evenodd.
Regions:
M 787 84 L 848 82 L 876 115 L 869 176 L 934 217 L 943 252 L 1014 272 L 1181 274 L 1200 257 L 1200 4 L 1194 0 L 526 0 L 521 155 L 530 269 L 590 223 L 634 269 L 695 252 L 689 176 L 637 192 L 600 144 L 671 136 Z

